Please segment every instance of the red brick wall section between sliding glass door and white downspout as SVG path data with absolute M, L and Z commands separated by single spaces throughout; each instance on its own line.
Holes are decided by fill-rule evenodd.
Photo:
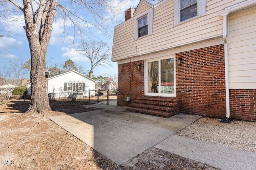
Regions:
M 178 66 L 178 58 L 182 65 Z M 176 53 L 176 97 L 181 112 L 226 117 L 224 45 Z

